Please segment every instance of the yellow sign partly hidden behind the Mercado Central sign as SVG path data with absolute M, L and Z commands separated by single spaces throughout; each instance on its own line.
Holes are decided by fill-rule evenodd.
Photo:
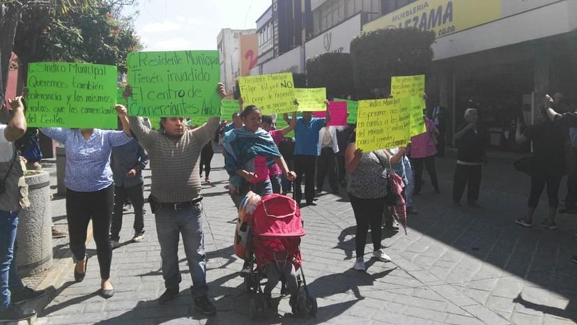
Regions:
M 393 98 L 410 98 L 404 102 L 408 106 L 403 109 L 410 111 L 410 136 L 426 132 L 423 120 L 423 109 L 426 109 L 424 100 L 425 76 L 409 75 L 391 78 L 391 95 Z

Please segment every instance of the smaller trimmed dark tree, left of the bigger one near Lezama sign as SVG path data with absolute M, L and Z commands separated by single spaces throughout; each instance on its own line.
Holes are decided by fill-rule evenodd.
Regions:
M 326 87 L 327 97 L 346 98 L 355 92 L 351 54 L 325 53 L 307 61 L 307 84 Z

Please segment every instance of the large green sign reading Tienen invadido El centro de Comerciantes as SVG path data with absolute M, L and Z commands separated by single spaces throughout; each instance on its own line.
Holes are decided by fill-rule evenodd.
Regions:
M 217 51 L 130 53 L 128 80 L 132 116 L 192 116 L 193 122 L 220 116 Z

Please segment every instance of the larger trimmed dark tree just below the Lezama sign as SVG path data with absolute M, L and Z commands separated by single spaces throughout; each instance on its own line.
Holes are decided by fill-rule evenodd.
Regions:
M 391 77 L 422 75 L 433 61 L 433 31 L 380 29 L 362 33 L 351 42 L 353 76 L 357 91 L 372 89 L 390 93 Z

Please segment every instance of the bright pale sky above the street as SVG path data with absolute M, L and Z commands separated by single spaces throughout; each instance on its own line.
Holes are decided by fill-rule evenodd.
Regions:
M 271 0 L 139 0 L 137 34 L 145 51 L 216 50 L 221 29 L 254 29 Z

